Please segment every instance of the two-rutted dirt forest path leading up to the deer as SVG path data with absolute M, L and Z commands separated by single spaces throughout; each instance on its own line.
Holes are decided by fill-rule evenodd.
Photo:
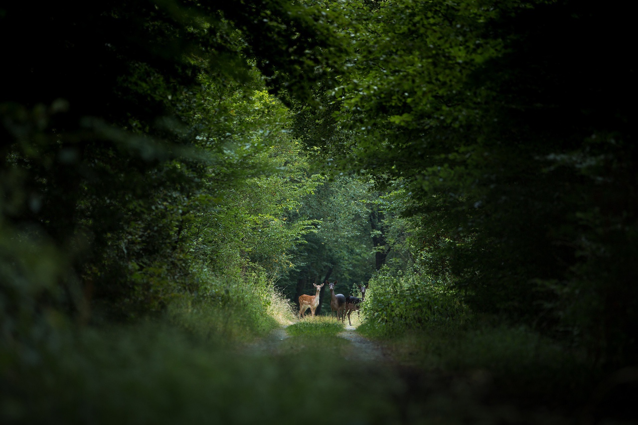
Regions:
M 286 327 L 274 329 L 268 336 L 244 346 L 242 350 L 260 357 L 299 355 L 304 358 L 312 348 L 323 348 L 321 356 L 335 365 L 346 365 L 350 377 L 349 394 L 366 389 L 368 408 L 382 405 L 396 410 L 398 423 L 445 423 L 450 425 L 573 425 L 568 412 L 547 408 L 540 400 L 516 399 L 494 386 L 491 374 L 483 369 L 467 371 L 426 370 L 397 361 L 389 348 L 345 325 L 339 338 L 323 340 L 326 347 L 311 345 L 309 339 L 290 336 Z M 319 341 L 322 341 L 320 338 Z M 346 342 L 347 341 L 347 342 Z M 316 357 L 310 356 L 309 362 Z M 288 360 L 286 360 L 288 361 Z M 345 362 L 344 362 L 345 361 Z M 294 364 L 294 362 L 292 363 Z M 314 363 L 313 363 L 314 364 Z M 327 369 L 324 371 L 327 372 Z M 325 379 L 334 377 L 328 373 Z M 388 407 L 390 406 L 390 407 Z

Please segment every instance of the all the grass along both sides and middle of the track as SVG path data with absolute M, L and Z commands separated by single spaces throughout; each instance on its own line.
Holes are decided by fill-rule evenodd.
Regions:
M 341 322 L 297 321 L 286 302 L 265 297 L 251 306 L 245 301 L 255 297 L 242 294 L 229 298 L 236 301 L 232 307 L 182 299 L 163 320 L 61 327 L 41 347 L 0 346 L 0 423 L 296 424 L 300 411 L 341 421 L 335 401 L 347 400 L 360 424 L 506 424 L 525 412 L 512 416 L 511 408 L 483 403 L 480 385 L 470 382 L 466 391 L 468 380 L 449 380 L 449 372 L 485 370 L 470 375 L 495 380 L 510 374 L 516 383 L 561 355 L 524 329 L 449 327 L 384 341 L 403 365 L 444 373 L 347 360 L 358 348 L 339 338 Z M 242 348 L 293 321 L 286 328 L 291 337 L 276 341 L 276 353 Z M 359 329 L 373 331 L 365 324 Z M 521 364 L 528 375 L 521 375 Z M 571 423 L 549 419 L 515 422 Z

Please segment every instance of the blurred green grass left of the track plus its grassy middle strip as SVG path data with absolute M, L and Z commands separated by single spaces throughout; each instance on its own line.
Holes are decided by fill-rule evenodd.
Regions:
M 366 378 L 365 394 L 360 378 L 345 381 L 367 376 L 335 351 L 347 341 L 309 332 L 284 343 L 294 349 L 251 355 L 160 320 L 64 332 L 10 365 L 0 350 L 0 423 L 293 424 L 300 411 L 327 418 L 327 401 L 346 398 L 366 409 L 362 423 L 399 414 L 390 375 Z

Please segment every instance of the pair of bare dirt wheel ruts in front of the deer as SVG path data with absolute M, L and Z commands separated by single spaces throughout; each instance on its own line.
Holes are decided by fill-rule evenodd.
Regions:
M 566 412 L 503 397 L 486 370 L 424 371 L 394 361 L 382 346 L 358 334 L 356 327 L 346 325 L 338 336 L 349 344 L 331 348 L 330 356 L 341 356 L 348 364 L 356 364 L 368 384 L 374 385 L 375 379 L 394 382 L 396 389 L 389 390 L 387 396 L 401 412 L 397 417 L 399 423 L 570 425 L 577 422 Z M 281 327 L 246 348 L 257 355 L 299 353 L 308 348 L 304 344 L 295 345 L 290 338 L 293 337 Z M 385 367 L 379 368 L 380 364 Z

